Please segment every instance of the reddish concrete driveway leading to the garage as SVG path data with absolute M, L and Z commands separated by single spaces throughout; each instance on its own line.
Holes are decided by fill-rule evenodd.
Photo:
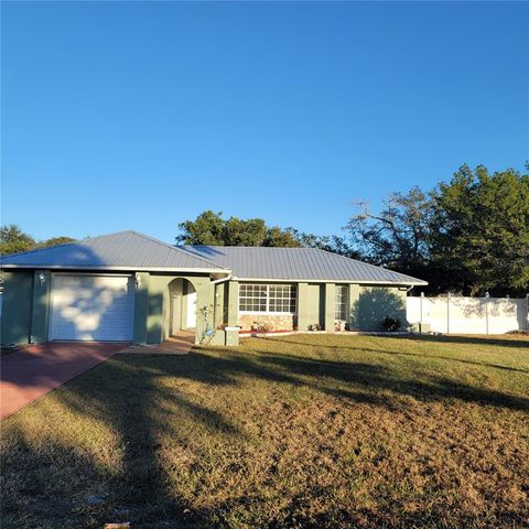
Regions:
M 3 356 L 0 420 L 127 346 L 127 343 L 50 342 Z

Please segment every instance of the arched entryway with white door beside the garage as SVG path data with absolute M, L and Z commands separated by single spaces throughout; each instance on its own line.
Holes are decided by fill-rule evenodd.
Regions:
M 183 278 L 169 283 L 169 336 L 196 327 L 196 290 Z

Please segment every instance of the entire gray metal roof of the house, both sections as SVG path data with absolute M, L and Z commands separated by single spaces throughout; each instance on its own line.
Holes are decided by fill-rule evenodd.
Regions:
M 427 284 L 410 276 L 316 248 L 171 246 L 133 230 L 3 256 L 0 267 L 231 271 L 234 278 L 241 280 Z

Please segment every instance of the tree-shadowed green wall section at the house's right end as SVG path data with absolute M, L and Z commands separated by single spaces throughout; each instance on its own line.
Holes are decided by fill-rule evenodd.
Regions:
M 406 290 L 397 287 L 360 287 L 357 306 L 358 327 L 360 331 L 382 331 L 386 316 L 406 321 Z

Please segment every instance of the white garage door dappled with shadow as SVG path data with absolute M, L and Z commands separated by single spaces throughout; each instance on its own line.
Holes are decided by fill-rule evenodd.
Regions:
M 130 276 L 53 276 L 51 339 L 129 342 L 133 314 Z

